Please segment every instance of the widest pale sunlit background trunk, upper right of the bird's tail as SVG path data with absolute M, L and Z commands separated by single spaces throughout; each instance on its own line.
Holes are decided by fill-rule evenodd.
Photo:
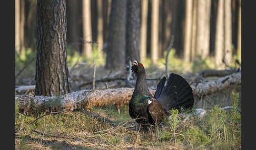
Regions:
M 198 0 L 198 27 L 196 29 L 196 55 L 205 59 L 209 55 L 210 46 L 210 14 L 211 1 Z

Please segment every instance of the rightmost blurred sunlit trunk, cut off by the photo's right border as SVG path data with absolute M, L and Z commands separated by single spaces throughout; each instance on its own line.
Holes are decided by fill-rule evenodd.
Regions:
M 242 27 L 242 22 L 241 22 L 241 0 L 239 0 L 239 5 L 238 5 L 238 46 L 237 46 L 237 55 L 238 59 L 241 61 L 241 51 L 242 51 L 242 35 L 241 35 L 241 27 Z

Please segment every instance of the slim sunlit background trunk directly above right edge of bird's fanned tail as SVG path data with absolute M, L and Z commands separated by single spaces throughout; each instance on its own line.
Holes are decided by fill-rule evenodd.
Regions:
M 185 13 L 185 38 L 184 38 L 184 60 L 190 62 L 191 53 L 191 30 L 192 30 L 192 11 L 193 1 L 186 0 L 186 13 Z

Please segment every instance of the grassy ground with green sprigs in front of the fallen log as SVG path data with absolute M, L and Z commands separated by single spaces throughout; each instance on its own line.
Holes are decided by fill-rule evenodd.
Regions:
M 94 108 L 101 116 L 109 118 L 118 126 L 99 120 L 82 111 L 44 115 L 17 113 L 15 131 L 16 147 L 26 149 L 38 147 L 57 149 L 64 147 L 129 149 L 166 149 L 170 146 L 178 149 L 241 149 L 241 106 L 238 93 L 232 93 L 232 108 L 220 109 L 214 106 L 203 118 L 199 118 L 194 109 L 188 121 L 177 110 L 171 110 L 171 119 L 161 126 L 150 127 L 148 132 L 126 128 L 133 126 L 127 105 L 120 109 L 114 106 Z M 17 105 L 15 107 L 17 110 Z M 184 113 L 184 110 L 181 110 Z M 35 132 L 37 131 L 37 132 Z M 43 135 L 42 135 L 43 134 Z M 51 142 L 47 142 L 51 141 Z M 65 141 L 68 144 L 63 144 Z M 77 142 L 78 141 L 78 142 Z

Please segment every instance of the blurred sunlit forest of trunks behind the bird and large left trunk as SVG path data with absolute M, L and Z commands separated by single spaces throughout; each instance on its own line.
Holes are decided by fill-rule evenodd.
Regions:
M 37 1 L 15 3 L 16 85 L 35 84 Z M 146 68 L 163 70 L 172 36 L 172 71 L 225 69 L 241 63 L 241 0 L 67 0 L 66 21 L 67 63 L 74 78 L 92 77 L 93 70 L 73 76 L 72 69 L 93 68 L 93 60 L 97 69 L 125 68 L 136 59 Z

